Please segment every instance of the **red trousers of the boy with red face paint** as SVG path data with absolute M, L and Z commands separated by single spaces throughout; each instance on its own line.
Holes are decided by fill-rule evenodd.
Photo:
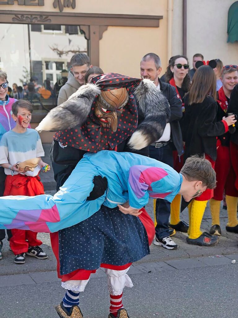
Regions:
M 39 176 L 30 177 L 25 175 L 7 176 L 5 181 L 5 191 L 3 196 L 36 196 L 44 194 L 43 184 Z M 36 239 L 37 232 L 27 230 L 11 230 L 10 248 L 17 254 L 26 253 L 29 246 L 39 246 L 41 240 Z

